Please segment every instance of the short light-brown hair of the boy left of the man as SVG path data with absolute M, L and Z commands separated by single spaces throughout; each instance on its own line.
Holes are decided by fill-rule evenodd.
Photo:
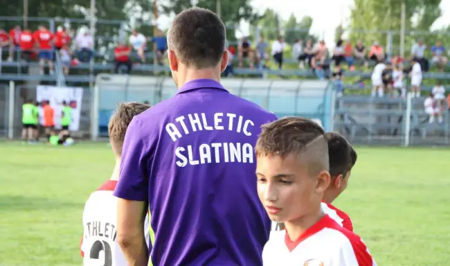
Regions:
M 116 155 L 122 154 L 123 141 L 125 140 L 125 133 L 129 123 L 132 122 L 134 116 L 149 108 L 150 105 L 138 102 L 120 103 L 117 105 L 116 112 L 109 118 L 108 125 L 109 141 Z

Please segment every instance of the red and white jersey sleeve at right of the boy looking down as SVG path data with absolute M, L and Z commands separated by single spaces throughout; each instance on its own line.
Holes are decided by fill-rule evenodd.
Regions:
M 336 256 L 332 258 L 332 266 L 377 266 L 375 260 L 363 240 L 355 234 L 347 234 L 348 242 L 345 242 Z

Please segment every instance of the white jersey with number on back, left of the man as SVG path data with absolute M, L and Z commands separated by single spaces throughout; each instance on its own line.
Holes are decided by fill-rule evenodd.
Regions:
M 81 256 L 85 266 L 126 266 L 117 237 L 117 197 L 113 196 L 117 181 L 108 180 L 93 192 L 84 206 L 84 236 L 81 240 Z M 145 240 L 150 238 L 148 218 L 145 219 Z

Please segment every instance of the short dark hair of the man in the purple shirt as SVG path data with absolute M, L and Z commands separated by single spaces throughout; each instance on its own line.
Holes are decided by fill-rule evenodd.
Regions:
M 225 49 L 226 30 L 214 12 L 188 8 L 179 13 L 168 32 L 168 45 L 187 67 L 215 67 Z

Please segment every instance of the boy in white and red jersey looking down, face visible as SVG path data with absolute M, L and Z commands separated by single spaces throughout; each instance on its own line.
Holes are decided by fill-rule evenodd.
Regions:
M 285 224 L 264 246 L 264 266 L 376 265 L 361 238 L 321 209 L 331 177 L 318 124 L 286 117 L 264 125 L 255 154 L 260 200 L 271 220 Z

